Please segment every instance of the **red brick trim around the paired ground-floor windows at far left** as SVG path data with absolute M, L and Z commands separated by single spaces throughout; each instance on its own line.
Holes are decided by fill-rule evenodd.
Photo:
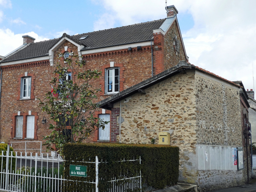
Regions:
M 31 115 L 35 116 L 35 129 L 34 129 L 34 139 L 38 139 L 37 136 L 37 130 L 38 130 L 38 114 L 37 112 L 31 112 Z M 12 130 L 11 130 L 11 136 L 14 138 L 16 136 L 16 117 L 18 116 L 18 113 L 12 114 Z M 25 139 L 27 136 L 27 116 L 28 113 L 20 113 L 20 116 L 23 116 L 23 128 L 22 128 L 22 139 Z

